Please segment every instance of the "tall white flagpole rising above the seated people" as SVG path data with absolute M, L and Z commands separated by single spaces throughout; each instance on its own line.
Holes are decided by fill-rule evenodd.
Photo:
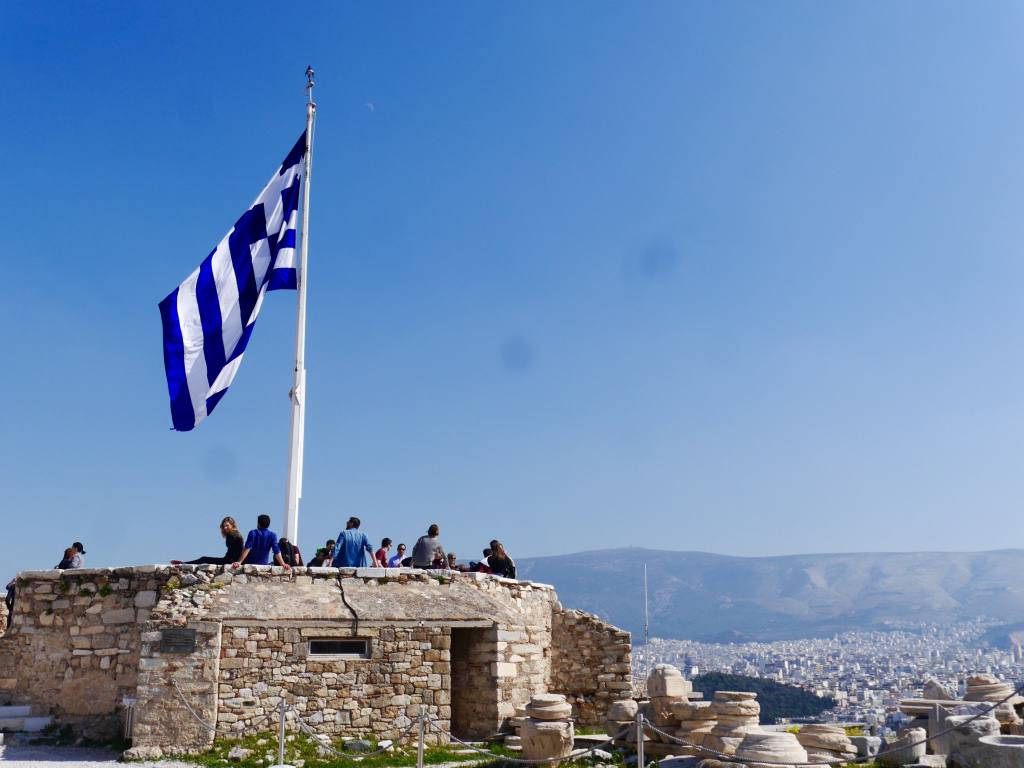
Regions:
M 302 184 L 302 243 L 296 271 L 298 318 L 295 324 L 295 379 L 292 400 L 292 439 L 288 449 L 288 499 L 285 507 L 285 539 L 299 543 L 299 500 L 302 498 L 302 451 L 306 425 L 306 256 L 309 248 L 309 182 L 313 170 L 313 68 L 306 68 L 306 168 Z

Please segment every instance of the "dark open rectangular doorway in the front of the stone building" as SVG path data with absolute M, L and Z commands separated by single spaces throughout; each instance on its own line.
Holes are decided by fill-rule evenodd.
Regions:
M 480 739 L 501 727 L 498 679 L 492 673 L 498 642 L 494 629 L 452 630 L 452 734 Z

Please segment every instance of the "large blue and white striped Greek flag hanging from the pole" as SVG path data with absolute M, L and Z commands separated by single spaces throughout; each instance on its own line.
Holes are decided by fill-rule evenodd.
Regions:
M 296 287 L 295 222 L 305 152 L 303 133 L 249 210 L 160 302 L 177 430 L 194 429 L 224 396 L 266 292 Z

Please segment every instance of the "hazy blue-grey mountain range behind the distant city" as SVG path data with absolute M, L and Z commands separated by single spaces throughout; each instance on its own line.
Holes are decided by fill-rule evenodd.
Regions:
M 613 549 L 521 558 L 568 607 L 651 637 L 741 642 L 829 636 L 906 623 L 1024 616 L 1024 550 L 728 557 Z M 998 641 L 998 638 L 992 638 Z

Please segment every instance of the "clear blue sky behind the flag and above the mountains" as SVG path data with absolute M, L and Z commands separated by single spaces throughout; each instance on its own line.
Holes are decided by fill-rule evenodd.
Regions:
M 308 10 L 305 10 L 308 9 Z M 5 3 L 0 569 L 281 521 L 294 294 L 157 303 L 318 73 L 300 543 L 1024 546 L 1024 6 Z

